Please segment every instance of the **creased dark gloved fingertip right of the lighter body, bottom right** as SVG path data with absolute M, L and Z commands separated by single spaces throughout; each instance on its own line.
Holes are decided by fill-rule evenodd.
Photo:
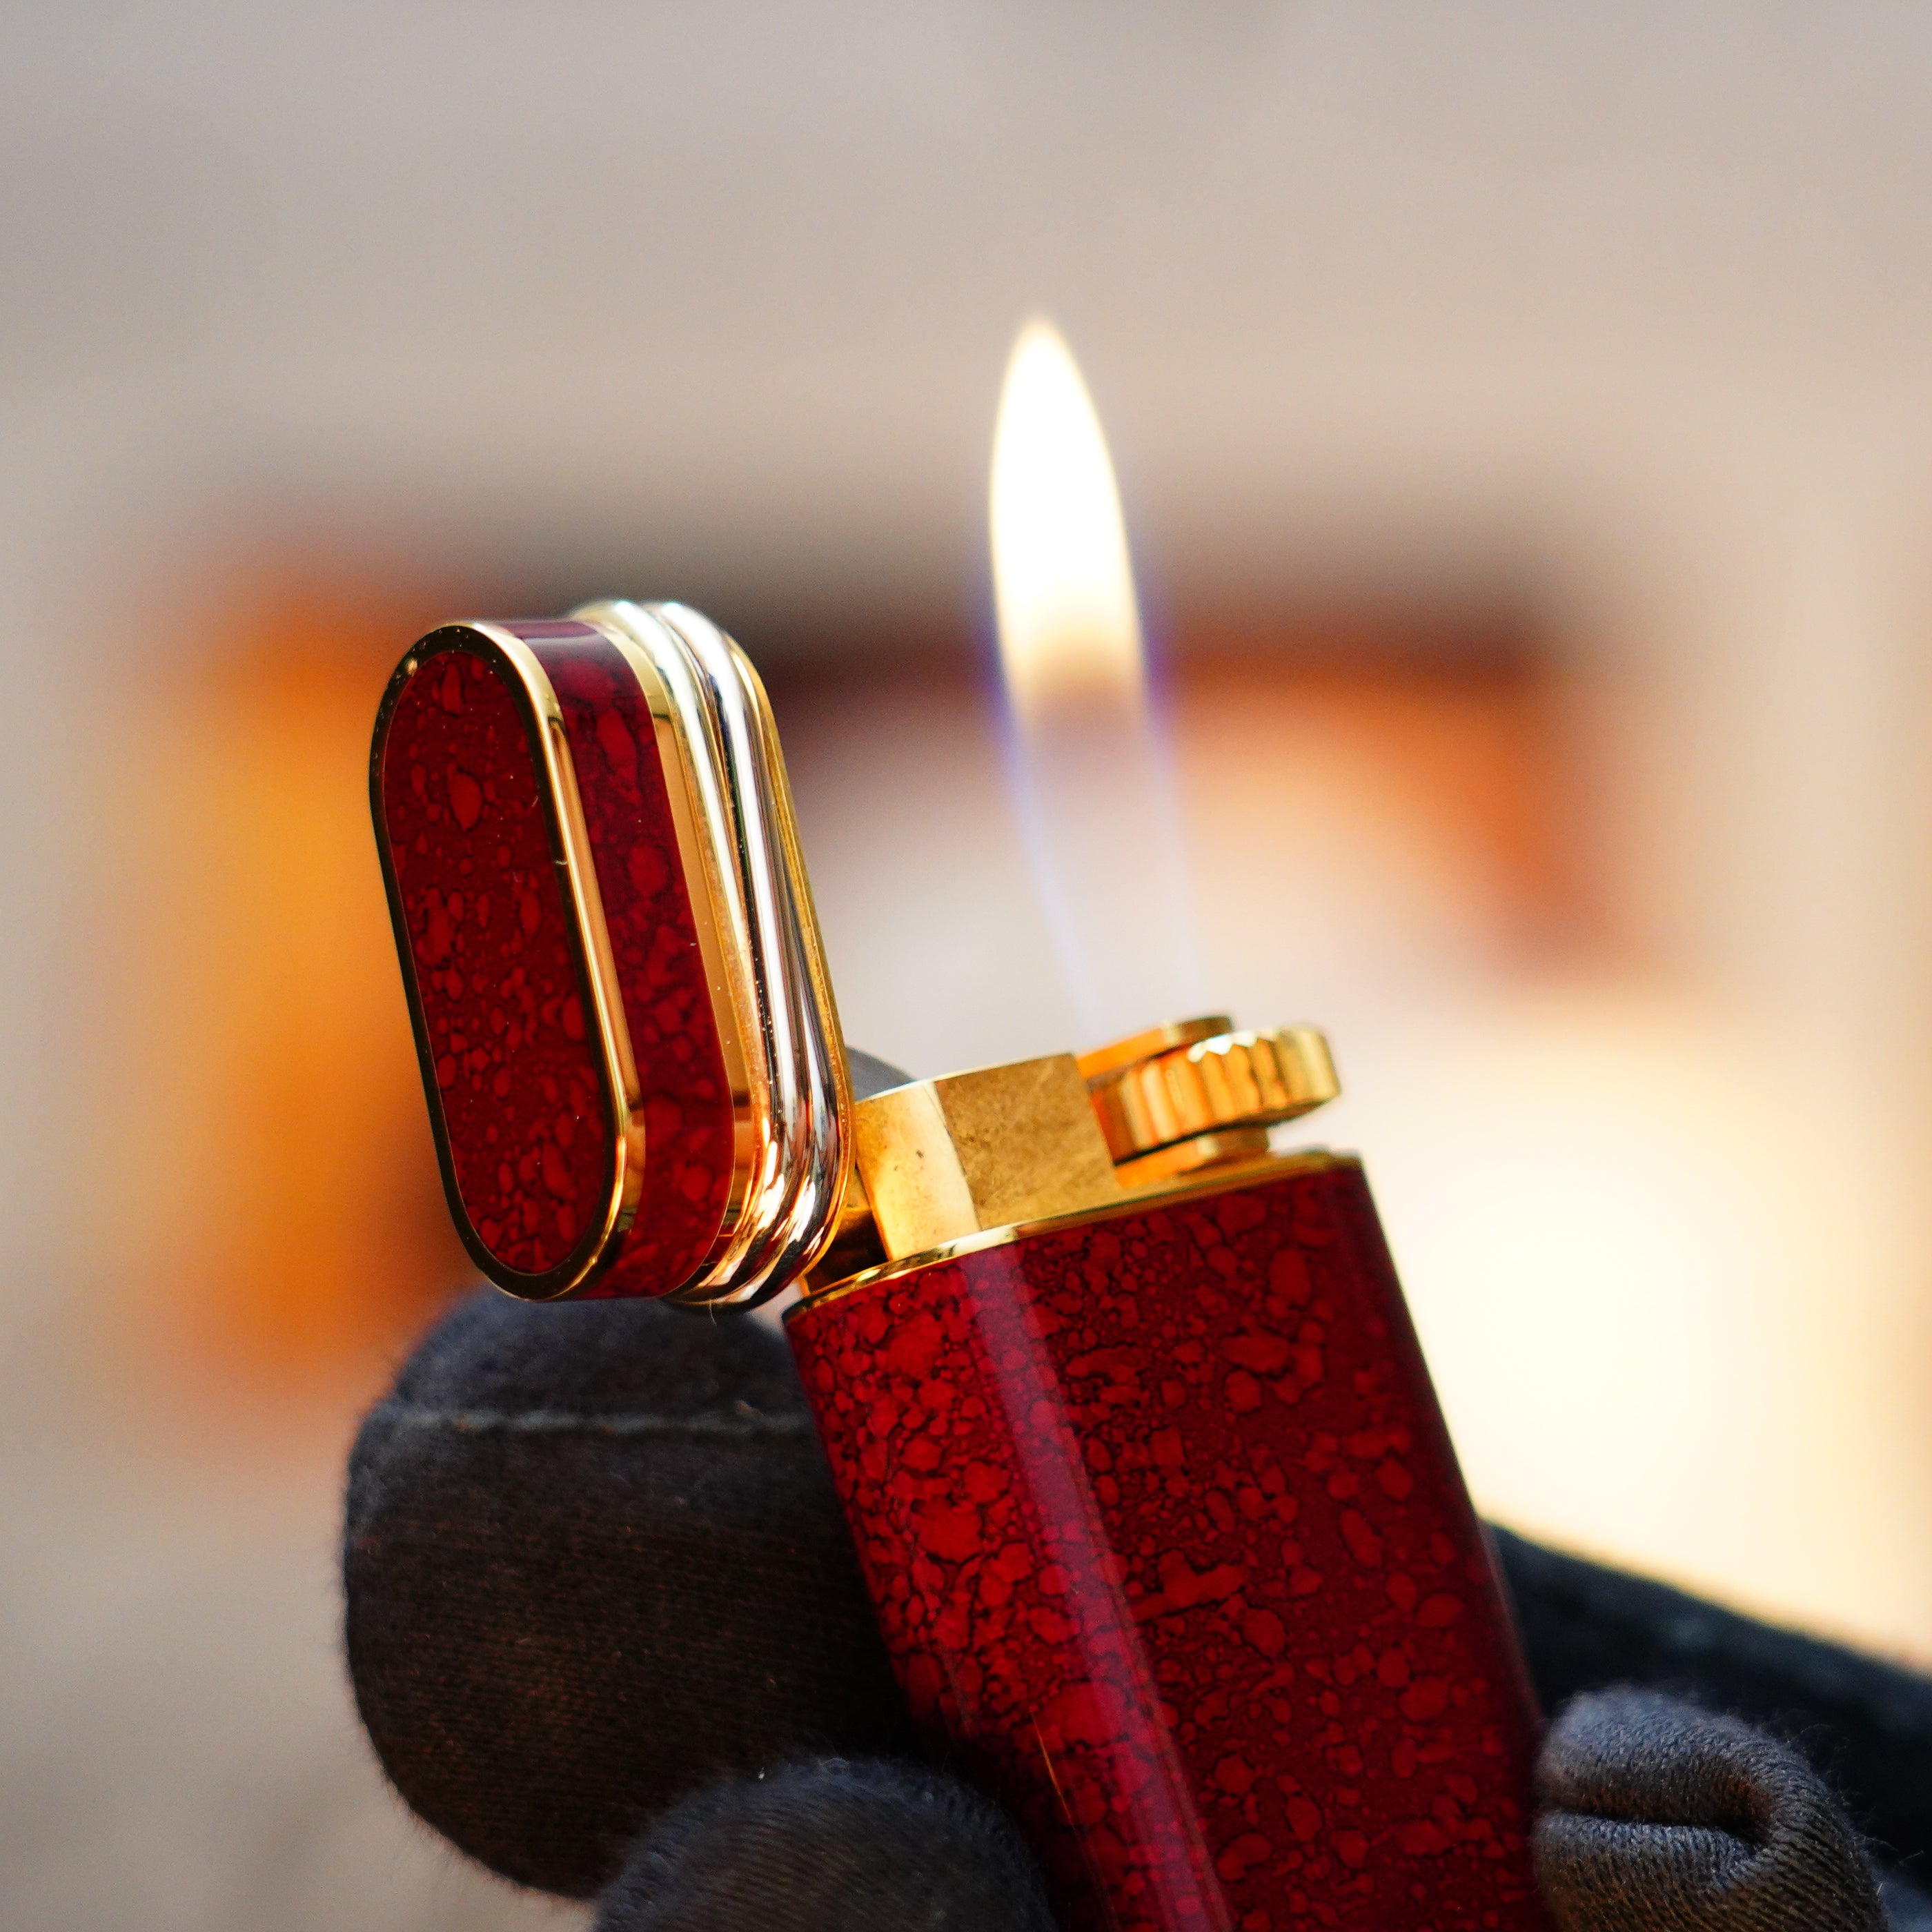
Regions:
M 1536 1880 L 1561 1932 L 1884 1928 L 1824 1779 L 1735 1718 L 1652 1690 L 1580 1696 L 1536 1785 Z

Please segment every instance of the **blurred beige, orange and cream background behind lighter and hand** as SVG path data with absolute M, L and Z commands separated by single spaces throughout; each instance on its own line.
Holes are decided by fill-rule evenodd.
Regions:
M 1308 1138 L 1368 1155 L 1482 1507 L 1932 1663 L 1932 15 L 8 39 L 10 1922 L 580 1920 L 406 1820 L 334 1654 L 354 1418 L 466 1273 L 375 701 L 444 616 L 697 603 L 769 676 L 848 1036 L 1084 1043 L 987 655 L 1036 309 L 1121 471 L 1213 1003 L 1331 1030 Z

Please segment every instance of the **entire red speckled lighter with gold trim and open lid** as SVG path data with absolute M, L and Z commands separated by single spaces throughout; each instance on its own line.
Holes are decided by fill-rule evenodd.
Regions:
M 763 688 L 694 611 L 423 638 L 371 802 L 450 1211 L 786 1316 L 935 1750 L 1066 1924 L 1544 1924 L 1536 1714 L 1320 1034 L 854 1103 Z

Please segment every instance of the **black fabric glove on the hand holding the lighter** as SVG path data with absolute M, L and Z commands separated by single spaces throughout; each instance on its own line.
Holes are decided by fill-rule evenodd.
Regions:
M 1640 1681 L 1830 1760 L 1893 1862 L 1932 1841 L 1932 1685 L 1499 1534 L 1555 1708 Z M 1047 1932 L 1001 1814 L 922 1762 L 790 1354 L 649 1302 L 464 1300 L 350 1463 L 348 1654 L 402 1795 L 603 1932 Z M 1791 1748 L 1656 1698 L 1549 1735 L 1563 1932 L 1870 1932 Z M 1913 1895 L 1897 1891 L 1895 1922 Z

